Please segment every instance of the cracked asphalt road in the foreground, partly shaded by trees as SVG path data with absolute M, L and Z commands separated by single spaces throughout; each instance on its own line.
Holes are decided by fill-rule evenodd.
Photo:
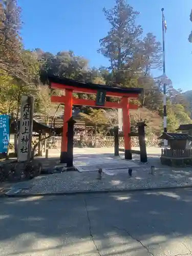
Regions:
M 1 199 L 0 255 L 192 255 L 191 193 Z

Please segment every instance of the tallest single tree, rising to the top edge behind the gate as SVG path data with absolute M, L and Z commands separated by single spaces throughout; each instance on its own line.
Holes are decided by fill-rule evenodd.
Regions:
M 135 23 L 139 12 L 134 11 L 125 0 L 116 0 L 113 9 L 104 8 L 103 12 L 112 27 L 108 35 L 99 40 L 98 52 L 109 58 L 114 82 L 125 86 L 124 78 L 132 71 L 134 55 L 142 35 L 141 26 Z

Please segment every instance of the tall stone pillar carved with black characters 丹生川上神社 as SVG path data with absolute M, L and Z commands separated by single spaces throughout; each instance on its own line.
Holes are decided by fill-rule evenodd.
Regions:
M 17 161 L 24 162 L 31 159 L 31 140 L 33 132 L 33 97 L 22 96 L 20 108 L 19 136 Z

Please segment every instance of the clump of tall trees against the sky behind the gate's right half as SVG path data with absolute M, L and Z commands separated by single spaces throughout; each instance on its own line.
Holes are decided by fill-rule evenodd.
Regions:
M 116 84 L 135 87 L 138 77 L 149 76 L 151 69 L 161 68 L 161 44 L 152 33 L 141 38 L 142 28 L 136 25 L 139 12 L 125 0 L 116 0 L 112 10 L 103 11 L 112 28 L 100 39 L 98 51 L 109 58 Z

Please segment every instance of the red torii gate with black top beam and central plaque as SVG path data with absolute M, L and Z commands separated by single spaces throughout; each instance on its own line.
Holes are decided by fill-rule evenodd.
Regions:
M 113 108 L 122 109 L 123 112 L 123 135 L 124 135 L 124 156 L 125 159 L 132 159 L 131 153 L 131 132 L 130 125 L 130 110 L 138 109 L 138 105 L 129 102 L 129 99 L 138 98 L 142 89 L 139 88 L 122 88 L 103 86 L 101 84 L 86 83 L 71 80 L 68 78 L 61 78 L 58 76 L 48 76 L 52 89 L 65 90 L 65 96 L 52 96 L 51 101 L 65 104 L 64 117 L 63 117 L 63 131 L 61 142 L 61 155 L 60 162 L 67 162 L 67 121 L 72 117 L 73 105 L 86 105 L 98 108 Z M 73 92 L 96 94 L 96 100 L 90 99 L 77 99 L 73 97 Z M 105 96 L 121 98 L 120 102 L 105 101 Z

